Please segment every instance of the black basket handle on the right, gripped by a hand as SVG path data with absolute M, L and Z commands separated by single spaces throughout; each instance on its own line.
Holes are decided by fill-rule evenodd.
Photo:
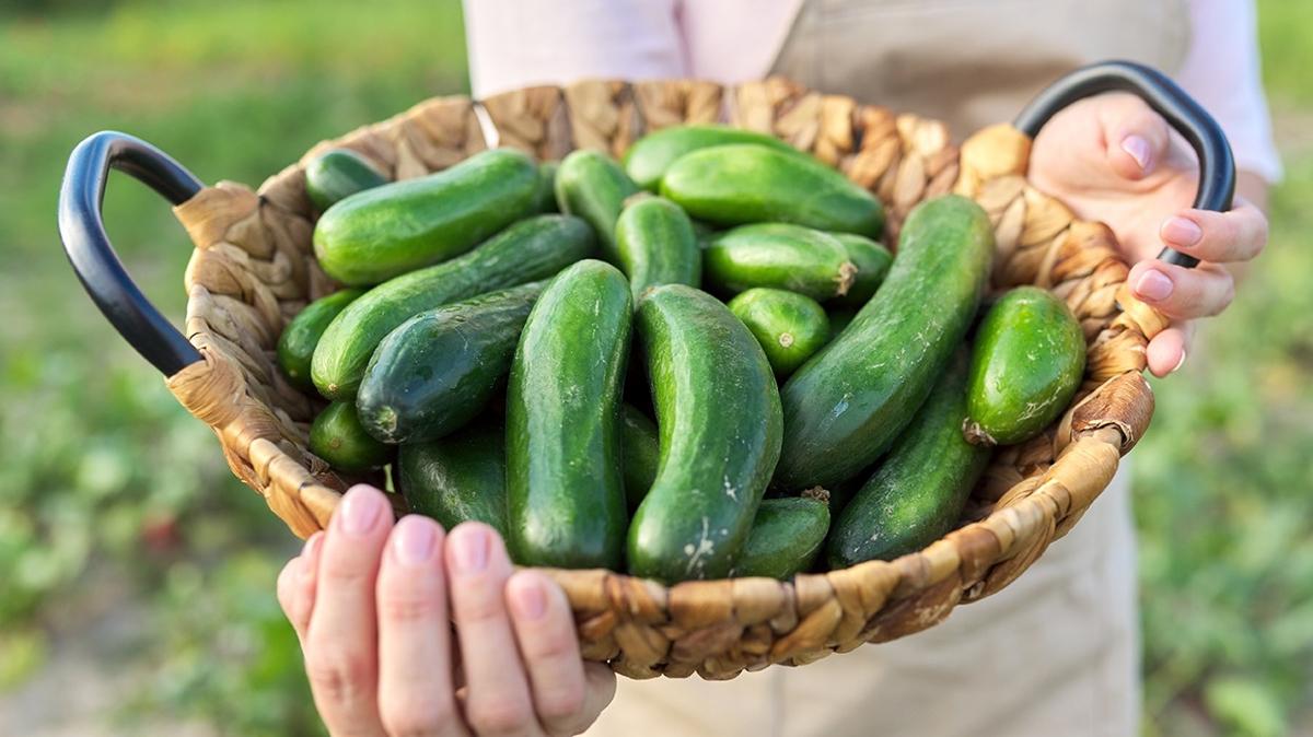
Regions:
M 1226 143 L 1226 134 L 1208 110 L 1195 102 L 1167 75 L 1152 67 L 1134 62 L 1099 62 L 1081 67 L 1039 93 L 1012 125 L 1035 138 L 1058 110 L 1077 100 L 1104 92 L 1136 94 L 1176 129 L 1195 149 L 1199 156 L 1196 210 L 1225 212 L 1232 209 L 1232 199 L 1236 195 L 1236 160 L 1230 144 Z M 1199 264 L 1194 256 L 1171 248 L 1163 248 L 1158 258 L 1187 269 Z

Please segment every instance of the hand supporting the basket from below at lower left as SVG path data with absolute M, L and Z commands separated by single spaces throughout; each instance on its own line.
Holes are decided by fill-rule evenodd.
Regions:
M 611 669 L 579 657 L 565 593 L 512 573 L 495 530 L 394 526 L 370 487 L 288 563 L 278 602 L 335 736 L 578 734 L 614 695 Z

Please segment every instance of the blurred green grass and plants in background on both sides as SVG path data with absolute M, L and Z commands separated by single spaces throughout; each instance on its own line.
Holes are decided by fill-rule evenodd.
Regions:
M 77 5 L 0 20 L 0 691 L 76 635 L 67 610 L 108 569 L 126 588 L 116 606 L 143 620 L 125 724 L 163 713 L 315 733 L 272 595 L 289 536 L 83 295 L 55 191 L 68 151 L 98 129 L 205 181 L 255 185 L 323 138 L 462 92 L 460 7 Z M 1313 4 L 1259 5 L 1287 164 L 1271 247 L 1184 372 L 1155 382 L 1136 450 L 1152 734 L 1313 724 Z M 167 206 L 116 177 L 105 215 L 129 270 L 179 319 L 190 244 Z

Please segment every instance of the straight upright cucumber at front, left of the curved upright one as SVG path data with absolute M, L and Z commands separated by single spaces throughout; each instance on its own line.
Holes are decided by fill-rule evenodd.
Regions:
M 520 334 L 507 387 L 507 489 L 516 563 L 617 569 L 625 483 L 620 395 L 629 282 L 603 261 L 551 279 Z

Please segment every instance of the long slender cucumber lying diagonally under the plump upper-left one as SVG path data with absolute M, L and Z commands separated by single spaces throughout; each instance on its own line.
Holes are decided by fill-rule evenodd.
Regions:
M 592 228 L 583 220 L 538 215 L 463 256 L 378 285 L 324 330 L 310 365 L 315 387 L 328 399 L 355 397 L 374 349 L 406 320 L 477 294 L 544 279 L 595 248 Z

